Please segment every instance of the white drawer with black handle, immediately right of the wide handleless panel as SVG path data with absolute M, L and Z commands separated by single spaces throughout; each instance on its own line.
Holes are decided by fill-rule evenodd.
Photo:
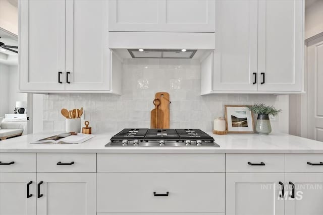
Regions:
M 284 172 L 284 154 L 226 154 L 226 172 Z

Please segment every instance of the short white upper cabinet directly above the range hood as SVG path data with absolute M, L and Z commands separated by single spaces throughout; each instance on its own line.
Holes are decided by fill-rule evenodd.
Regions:
M 215 0 L 110 0 L 109 31 L 214 32 Z

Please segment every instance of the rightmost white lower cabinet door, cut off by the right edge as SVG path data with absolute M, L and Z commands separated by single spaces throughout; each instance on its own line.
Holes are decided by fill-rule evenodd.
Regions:
M 286 200 L 286 215 L 323 214 L 323 173 L 286 173 L 289 195 L 295 185 L 295 198 Z

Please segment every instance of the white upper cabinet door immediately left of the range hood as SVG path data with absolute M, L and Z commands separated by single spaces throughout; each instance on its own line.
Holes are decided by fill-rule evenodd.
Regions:
M 66 1 L 66 90 L 110 90 L 108 2 Z

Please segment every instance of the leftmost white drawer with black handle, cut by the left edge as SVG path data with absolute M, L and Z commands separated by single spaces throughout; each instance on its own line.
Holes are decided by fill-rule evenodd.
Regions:
M 0 153 L 0 172 L 36 172 L 36 153 Z

